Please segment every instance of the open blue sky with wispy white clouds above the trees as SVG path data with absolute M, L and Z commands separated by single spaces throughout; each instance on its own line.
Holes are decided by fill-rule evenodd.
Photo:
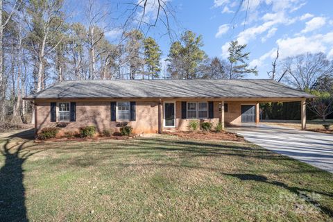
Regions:
M 257 65 L 259 70 L 258 76 L 248 78 L 268 78 L 266 71 L 271 69 L 278 48 L 281 59 L 318 51 L 333 58 L 332 0 L 250 0 L 249 6 L 245 0 L 237 17 L 234 11 L 239 1 L 172 0 L 171 3 L 182 28 L 203 35 L 203 49 L 208 56 L 228 56 L 230 40 L 248 44 L 250 65 Z M 169 42 L 159 43 L 167 56 Z

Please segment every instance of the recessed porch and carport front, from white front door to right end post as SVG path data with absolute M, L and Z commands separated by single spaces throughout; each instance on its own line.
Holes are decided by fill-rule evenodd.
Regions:
M 295 101 L 295 99 L 277 100 L 228 100 L 221 99 L 205 101 L 202 99 L 189 101 L 162 101 L 158 105 L 158 133 L 163 131 L 189 130 L 190 121 L 210 122 L 214 125 L 222 123 L 223 129 L 227 124 L 241 125 L 242 123 L 259 123 L 259 103 L 276 101 Z M 300 101 L 301 129 L 306 128 L 306 101 Z

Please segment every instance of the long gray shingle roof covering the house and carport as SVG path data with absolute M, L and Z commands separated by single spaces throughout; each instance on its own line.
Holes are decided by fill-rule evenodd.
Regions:
M 66 98 L 313 98 L 267 79 L 248 80 L 67 80 L 26 99 Z

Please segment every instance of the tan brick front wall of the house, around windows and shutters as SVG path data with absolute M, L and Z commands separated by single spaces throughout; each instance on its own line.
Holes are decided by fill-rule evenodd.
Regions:
M 50 102 L 37 103 L 37 131 L 42 128 L 56 126 L 50 121 Z M 226 101 L 228 112 L 225 112 L 225 123 L 241 123 L 241 104 L 255 104 L 241 101 Z M 163 108 L 161 110 L 164 112 Z M 176 129 L 188 130 L 190 119 L 181 119 L 181 101 L 176 102 Z M 163 114 L 162 114 L 163 117 Z M 220 120 L 219 101 L 214 102 L 214 118 L 205 119 L 213 123 L 213 128 Z M 163 119 L 162 119 L 163 123 Z M 77 101 L 76 121 L 70 122 L 62 132 L 78 130 L 81 126 L 96 126 L 98 133 L 105 129 L 119 130 L 116 122 L 110 121 L 110 101 Z M 128 126 L 133 127 L 133 133 L 157 133 L 158 131 L 158 102 L 157 101 L 137 101 L 136 121 L 128 122 Z

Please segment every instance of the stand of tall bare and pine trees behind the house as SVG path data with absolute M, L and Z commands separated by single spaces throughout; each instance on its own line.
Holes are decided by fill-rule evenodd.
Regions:
M 78 22 L 64 0 L 0 0 L 1 123 L 31 123 L 33 106 L 22 98 L 63 80 L 240 79 L 257 74 L 248 65 L 245 44 L 231 41 L 228 59 L 211 58 L 203 51 L 200 33 L 182 28 L 178 35 L 172 1 L 87 0 L 82 5 Z M 119 17 L 112 17 L 114 8 Z M 166 60 L 150 35 L 154 28 L 169 38 Z M 110 33 L 117 37 L 110 39 Z M 327 119 L 333 112 L 332 70 L 324 53 L 280 60 L 277 51 L 267 77 L 316 94 L 309 117 Z M 299 109 L 297 103 L 262 104 L 264 119 L 300 119 Z

